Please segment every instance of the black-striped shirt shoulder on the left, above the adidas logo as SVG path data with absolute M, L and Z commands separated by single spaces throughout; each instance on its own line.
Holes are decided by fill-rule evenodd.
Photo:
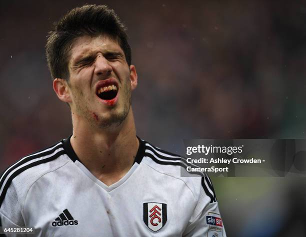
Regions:
M 7 167 L 0 176 L 0 206 L 9 189 L 23 197 L 30 186 L 45 173 L 57 169 L 69 161 L 62 140 L 17 160 Z

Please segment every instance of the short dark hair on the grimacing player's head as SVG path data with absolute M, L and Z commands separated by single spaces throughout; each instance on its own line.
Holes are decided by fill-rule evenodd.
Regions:
M 122 48 L 126 62 L 131 63 L 131 50 L 126 28 L 114 10 L 106 5 L 83 5 L 73 8 L 54 22 L 45 45 L 48 67 L 52 78 L 69 78 L 68 60 L 71 45 L 76 37 L 104 34 L 116 40 Z

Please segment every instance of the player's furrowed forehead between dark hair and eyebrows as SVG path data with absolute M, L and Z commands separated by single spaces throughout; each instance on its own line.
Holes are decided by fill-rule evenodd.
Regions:
M 75 60 L 90 53 L 103 53 L 109 51 L 123 53 L 123 50 L 118 42 L 108 36 L 99 35 L 96 37 L 91 37 L 84 35 L 74 39 L 73 43 L 71 44 L 70 58 L 71 60 Z

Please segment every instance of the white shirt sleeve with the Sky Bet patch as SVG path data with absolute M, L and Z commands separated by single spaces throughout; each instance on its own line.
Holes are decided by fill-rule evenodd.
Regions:
M 226 237 L 218 202 L 209 177 L 201 179 L 199 199 L 182 236 Z

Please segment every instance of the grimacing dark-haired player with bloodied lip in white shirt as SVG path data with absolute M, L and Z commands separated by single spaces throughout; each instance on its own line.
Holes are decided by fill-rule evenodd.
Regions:
M 50 32 L 46 55 L 73 132 L 1 175 L 2 229 L 14 235 L 10 230 L 27 227 L 36 236 L 225 236 L 210 179 L 180 177 L 180 157 L 136 136 L 137 73 L 114 11 L 72 9 Z

